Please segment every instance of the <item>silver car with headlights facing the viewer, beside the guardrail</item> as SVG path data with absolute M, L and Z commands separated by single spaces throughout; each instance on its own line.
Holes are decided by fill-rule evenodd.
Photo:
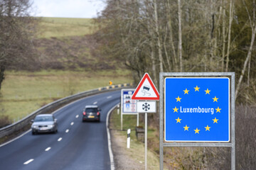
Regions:
M 36 118 L 31 122 L 33 123 L 31 125 L 32 135 L 38 132 L 58 132 L 57 119 L 51 114 L 36 115 Z

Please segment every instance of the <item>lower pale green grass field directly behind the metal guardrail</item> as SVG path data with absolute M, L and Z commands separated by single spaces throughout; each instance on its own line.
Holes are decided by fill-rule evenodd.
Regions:
M 16 121 L 57 98 L 113 84 L 131 83 L 128 71 L 6 72 L 1 89 L 0 116 Z

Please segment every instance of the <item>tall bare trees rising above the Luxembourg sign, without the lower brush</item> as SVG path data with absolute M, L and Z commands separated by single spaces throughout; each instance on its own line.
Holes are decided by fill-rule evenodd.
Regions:
M 144 72 L 155 84 L 159 72 L 235 72 L 235 98 L 255 105 L 255 0 L 110 0 L 97 23 L 102 54 L 137 81 Z

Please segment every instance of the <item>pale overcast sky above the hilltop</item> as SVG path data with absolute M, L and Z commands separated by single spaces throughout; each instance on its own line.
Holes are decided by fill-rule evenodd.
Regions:
M 32 0 L 32 16 L 94 18 L 102 11 L 102 0 Z

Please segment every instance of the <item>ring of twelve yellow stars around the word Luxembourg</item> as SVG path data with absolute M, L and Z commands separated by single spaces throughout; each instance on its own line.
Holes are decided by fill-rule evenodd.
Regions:
M 199 89 L 200 89 L 200 87 L 198 87 L 198 86 L 196 86 L 196 87 L 194 87 L 194 89 L 195 89 L 195 91 L 199 91 Z M 188 89 L 185 89 L 185 90 L 183 90 L 184 91 L 184 94 L 188 94 L 188 92 L 189 92 L 189 90 Z M 206 94 L 210 94 L 210 90 L 209 89 L 206 89 L 205 90 L 206 91 Z M 181 102 L 181 99 L 182 98 L 180 98 L 179 96 L 176 98 L 176 102 Z M 213 102 L 217 102 L 218 103 L 218 99 L 219 98 L 217 98 L 216 96 L 213 98 Z M 176 108 L 176 106 L 175 106 L 175 108 L 173 108 L 174 109 L 174 113 L 176 112 L 176 113 L 178 113 L 178 108 Z M 215 110 L 216 110 L 216 113 L 220 113 L 220 110 L 221 110 L 221 108 L 215 108 Z M 180 119 L 179 117 L 176 119 L 176 123 L 181 123 L 181 120 L 182 119 Z M 217 118 L 214 118 L 213 119 L 213 123 L 218 123 L 218 119 Z M 186 126 L 184 126 L 183 127 L 184 128 L 184 131 L 188 131 L 188 128 L 190 128 L 190 127 L 188 127 L 188 125 L 186 125 Z M 205 129 L 206 129 L 206 131 L 210 131 L 210 127 L 209 127 L 209 125 L 207 125 L 206 127 L 204 127 Z M 199 134 L 199 129 L 198 128 L 196 128 L 195 130 L 195 134 Z

